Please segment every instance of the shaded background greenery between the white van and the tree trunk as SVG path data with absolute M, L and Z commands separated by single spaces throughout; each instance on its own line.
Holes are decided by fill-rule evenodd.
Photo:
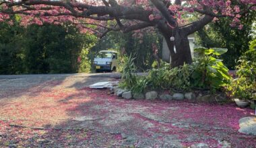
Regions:
M 152 44 L 156 44 L 158 49 L 162 49 L 162 37 L 159 33 L 128 33 L 109 32 L 106 36 L 100 39 L 96 45 L 90 50 L 91 54 L 95 54 L 100 50 L 117 50 L 121 53 L 119 58 L 132 54 L 135 55 L 134 64 L 138 71 L 146 71 L 151 69 L 156 59 Z M 161 57 L 162 50 L 158 50 L 158 57 Z M 123 61 L 123 59 L 119 59 Z M 120 65 L 122 66 L 122 65 Z M 121 69 L 120 69 L 121 70 Z

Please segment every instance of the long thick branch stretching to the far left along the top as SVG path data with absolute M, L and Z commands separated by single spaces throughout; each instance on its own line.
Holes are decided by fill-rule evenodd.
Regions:
M 20 2 L 8 2 L 5 1 L 8 7 L 22 6 L 22 5 L 51 5 L 65 7 L 65 9 L 71 11 L 71 15 L 74 17 L 92 18 L 94 15 L 104 16 L 110 15 L 110 17 L 125 18 L 128 20 L 141 20 L 143 22 L 150 22 L 148 16 L 151 11 L 146 11 L 139 7 L 124 7 L 117 5 L 117 7 L 107 7 L 102 5 L 88 5 L 85 3 L 63 3 L 62 1 L 20 1 Z M 83 13 L 75 11 L 74 8 L 86 9 Z M 106 16 L 105 16 L 106 17 Z M 99 18 L 100 19 L 100 18 Z M 104 20 L 104 19 L 103 19 Z

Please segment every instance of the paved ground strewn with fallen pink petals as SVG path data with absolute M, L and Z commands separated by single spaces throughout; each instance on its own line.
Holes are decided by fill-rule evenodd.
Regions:
M 90 89 L 108 77 L 0 79 L 0 147 L 255 147 L 238 133 L 253 110 L 160 100 L 123 100 Z

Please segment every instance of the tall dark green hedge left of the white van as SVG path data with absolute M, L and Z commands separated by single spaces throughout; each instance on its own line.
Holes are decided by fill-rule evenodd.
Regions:
M 87 54 L 94 36 L 80 34 L 70 25 L 0 26 L 0 74 L 90 71 Z

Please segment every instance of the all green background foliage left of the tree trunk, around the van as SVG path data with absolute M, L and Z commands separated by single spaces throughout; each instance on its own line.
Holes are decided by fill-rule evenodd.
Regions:
M 90 72 L 95 54 L 109 49 L 124 49 L 125 54 L 135 55 L 135 65 L 144 71 L 156 65 L 152 44 L 159 49 L 158 56 L 162 54 L 162 37 L 157 32 L 143 36 L 109 32 L 98 40 L 69 24 L 32 24 L 23 28 L 19 22 L 1 22 L 0 32 L 0 74 Z

